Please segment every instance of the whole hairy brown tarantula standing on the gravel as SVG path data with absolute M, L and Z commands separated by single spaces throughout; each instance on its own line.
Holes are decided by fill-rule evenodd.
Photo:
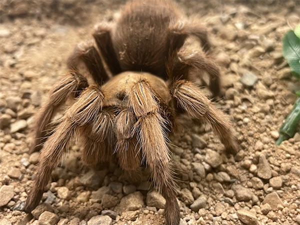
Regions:
M 184 49 L 188 36 L 197 37 L 203 50 Z M 150 167 L 152 180 L 166 200 L 166 223 L 178 225 L 167 144 L 176 115 L 185 112 L 208 122 L 228 152 L 238 151 L 227 116 L 188 81 L 190 70 L 205 71 L 213 96 L 220 93 L 218 67 L 206 54 L 210 47 L 206 31 L 185 19 L 171 1 L 132 0 L 115 23 L 99 24 L 93 37 L 97 47 L 85 42 L 75 48 L 67 61 L 68 71 L 37 115 L 31 152 L 38 149 L 43 130 L 59 107 L 76 97 L 44 143 L 25 211 L 39 203 L 52 169 L 70 139 L 78 135 L 83 144 L 81 159 L 92 168 L 113 158 L 133 176 L 141 163 Z M 79 72 L 82 64 L 88 70 L 86 77 Z

